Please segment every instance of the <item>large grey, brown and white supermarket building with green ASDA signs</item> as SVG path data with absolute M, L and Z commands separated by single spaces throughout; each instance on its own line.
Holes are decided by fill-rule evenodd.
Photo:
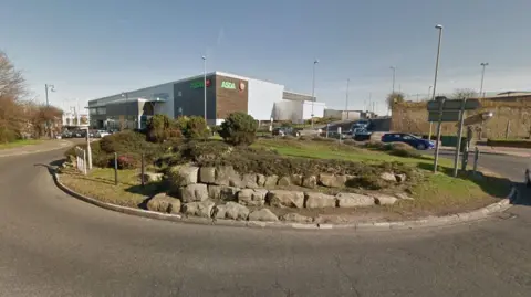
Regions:
M 257 120 L 310 119 L 322 117 L 325 105 L 314 97 L 284 91 L 284 86 L 239 75 L 212 72 L 162 85 L 124 92 L 88 102 L 90 125 L 93 128 L 144 128 L 157 114 L 170 118 L 205 115 L 207 121 L 219 125 L 229 114 L 244 112 Z

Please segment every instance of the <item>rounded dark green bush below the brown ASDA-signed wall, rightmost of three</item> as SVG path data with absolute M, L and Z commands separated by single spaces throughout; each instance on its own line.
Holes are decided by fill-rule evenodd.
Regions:
M 228 144 L 251 145 L 257 137 L 258 124 L 254 118 L 246 113 L 230 114 L 221 124 L 219 136 Z

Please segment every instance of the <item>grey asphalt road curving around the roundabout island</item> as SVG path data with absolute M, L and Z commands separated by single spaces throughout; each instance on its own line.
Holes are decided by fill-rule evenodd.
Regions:
M 291 231 L 128 216 L 55 189 L 61 152 L 0 159 L 0 296 L 531 296 L 531 208 L 412 231 Z M 525 161 L 483 156 L 516 182 Z

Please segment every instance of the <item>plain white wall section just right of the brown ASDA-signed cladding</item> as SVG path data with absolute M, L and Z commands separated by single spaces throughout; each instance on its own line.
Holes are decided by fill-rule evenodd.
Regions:
M 248 114 L 258 120 L 270 120 L 274 103 L 282 99 L 283 92 L 283 85 L 250 78 Z

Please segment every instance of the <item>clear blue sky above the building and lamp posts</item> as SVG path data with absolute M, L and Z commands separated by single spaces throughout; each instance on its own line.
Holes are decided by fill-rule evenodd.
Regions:
M 51 104 L 220 71 L 315 95 L 331 108 L 386 113 L 395 89 L 427 97 L 480 87 L 531 91 L 529 0 L 0 0 L 0 51 Z M 419 94 L 418 96 L 416 94 Z M 371 98 L 371 99 L 369 99 Z

